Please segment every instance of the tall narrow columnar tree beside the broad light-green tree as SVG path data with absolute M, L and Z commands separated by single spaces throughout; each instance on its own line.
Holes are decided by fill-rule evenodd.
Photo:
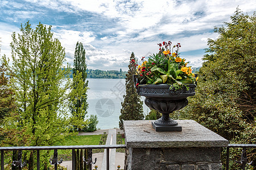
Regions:
M 85 58 L 85 49 L 82 45 L 82 42 L 76 43 L 75 49 L 75 57 L 74 57 L 74 67 L 73 67 L 73 91 L 80 91 L 80 95 L 74 96 L 71 99 L 71 114 L 72 114 L 72 121 L 75 130 L 81 130 L 85 125 L 85 115 L 87 114 L 88 103 L 87 103 L 87 89 L 88 89 L 88 80 L 87 73 L 86 73 L 86 58 Z M 77 79 L 77 76 L 79 79 Z M 82 83 L 81 87 L 77 86 L 77 84 Z M 82 82 L 81 82 L 82 81 Z M 76 121 L 77 120 L 77 121 Z

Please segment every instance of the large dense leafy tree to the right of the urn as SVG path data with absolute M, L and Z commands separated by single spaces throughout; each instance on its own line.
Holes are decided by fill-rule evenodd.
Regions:
M 230 23 L 215 28 L 216 40 L 208 40 L 203 67 L 199 72 L 196 95 L 180 111 L 220 134 L 230 143 L 256 142 L 256 14 L 245 15 L 237 9 Z M 233 152 L 233 160 L 241 151 Z M 255 150 L 247 150 L 255 162 Z M 224 162 L 225 163 L 225 162 Z M 230 163 L 236 169 L 236 163 Z M 255 163 L 254 163 L 255 166 Z

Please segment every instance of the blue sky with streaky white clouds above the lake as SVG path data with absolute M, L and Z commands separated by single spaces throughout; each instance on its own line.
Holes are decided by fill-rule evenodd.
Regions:
M 77 41 L 84 44 L 89 69 L 127 70 L 131 52 L 141 58 L 158 43 L 180 42 L 189 66 L 201 66 L 214 26 L 229 22 L 237 6 L 253 14 L 255 0 L 0 0 L 1 55 L 11 55 L 11 33 L 30 20 L 52 25 L 68 63 Z

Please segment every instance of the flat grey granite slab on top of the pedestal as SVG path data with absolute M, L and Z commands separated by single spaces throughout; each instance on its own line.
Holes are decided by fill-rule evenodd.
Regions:
M 193 120 L 176 120 L 182 131 L 155 131 L 150 120 L 123 121 L 127 147 L 226 147 L 228 140 Z

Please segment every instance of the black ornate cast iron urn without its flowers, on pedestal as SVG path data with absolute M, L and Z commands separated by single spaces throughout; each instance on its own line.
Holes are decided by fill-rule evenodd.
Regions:
M 137 75 L 134 75 L 134 83 L 137 84 Z M 195 95 L 196 84 L 185 84 L 179 90 L 170 88 L 170 84 L 145 84 L 135 86 L 138 95 L 145 96 L 147 107 L 162 113 L 162 117 L 152 121 L 152 126 L 156 131 L 181 131 L 181 126 L 177 121 L 170 118 L 170 113 L 184 108 L 188 105 L 188 96 Z

